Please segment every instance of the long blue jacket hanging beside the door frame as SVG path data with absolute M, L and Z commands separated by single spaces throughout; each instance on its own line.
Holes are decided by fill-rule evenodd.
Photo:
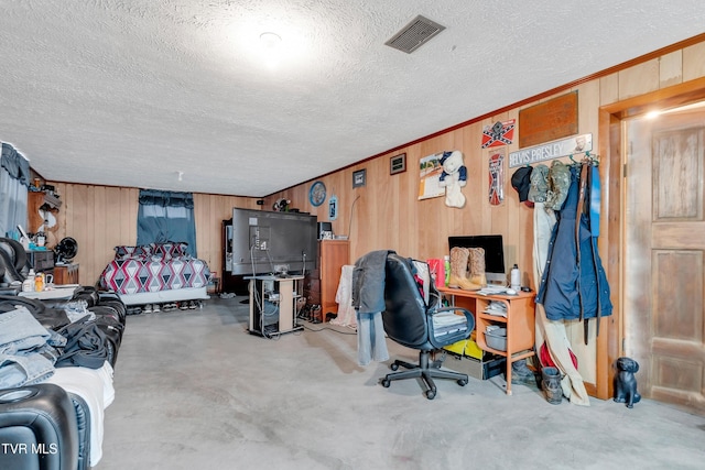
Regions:
M 590 172 L 593 168 L 587 170 L 584 177 L 596 177 Z M 589 194 L 584 198 L 587 210 L 577 214 L 579 181 L 581 168 L 572 167 L 571 187 L 556 215 L 557 223 L 536 294 L 536 303 L 543 304 L 550 320 L 599 318 L 612 313 L 609 284 L 597 252 L 597 236 L 593 237 L 590 232 Z M 585 187 L 589 186 L 586 182 Z M 579 217 L 577 227 L 576 217 Z

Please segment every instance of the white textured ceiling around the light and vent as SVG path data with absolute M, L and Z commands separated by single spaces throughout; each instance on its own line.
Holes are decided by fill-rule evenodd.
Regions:
M 384 45 L 417 14 L 446 30 Z M 260 197 L 703 24 L 702 0 L 0 0 L 0 140 L 54 181 Z

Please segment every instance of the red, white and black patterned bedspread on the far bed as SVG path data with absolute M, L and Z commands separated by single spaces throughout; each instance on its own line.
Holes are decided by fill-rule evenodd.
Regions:
M 122 253 L 100 275 L 100 287 L 118 294 L 159 292 L 208 284 L 210 270 L 205 261 L 181 253 Z M 173 251 L 173 250 L 172 250 Z

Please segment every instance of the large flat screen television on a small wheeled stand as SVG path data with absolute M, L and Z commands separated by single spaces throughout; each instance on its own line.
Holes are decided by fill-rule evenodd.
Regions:
M 305 274 L 316 267 L 316 216 L 232 208 L 232 275 Z

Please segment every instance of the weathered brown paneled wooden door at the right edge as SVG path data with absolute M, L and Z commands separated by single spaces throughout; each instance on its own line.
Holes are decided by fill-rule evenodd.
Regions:
M 705 413 L 705 107 L 626 121 L 625 345 L 643 396 Z

